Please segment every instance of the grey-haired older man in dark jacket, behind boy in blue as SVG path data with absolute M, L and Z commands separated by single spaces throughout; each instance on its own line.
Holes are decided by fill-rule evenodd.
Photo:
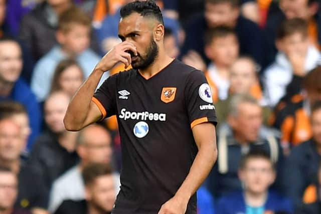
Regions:
M 258 101 L 250 95 L 234 95 L 228 109 L 227 124 L 218 129 L 217 164 L 207 179 L 207 187 L 216 198 L 242 189 L 237 171 L 242 155 L 249 151 L 267 152 L 277 169 L 282 164 L 278 135 L 262 125 L 262 107 Z

